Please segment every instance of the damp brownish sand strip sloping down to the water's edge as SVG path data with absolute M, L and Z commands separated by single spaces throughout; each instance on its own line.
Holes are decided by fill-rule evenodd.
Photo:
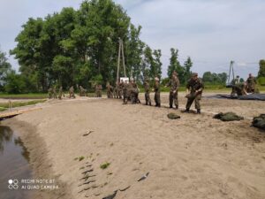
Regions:
M 19 121 L 16 118 L 6 119 L 1 121 L 2 125 L 10 126 L 11 129 L 18 134 L 24 146 L 29 151 L 29 165 L 32 168 L 32 180 L 55 180 L 58 189 L 55 190 L 33 190 L 30 193 L 30 198 L 48 199 L 62 198 L 72 199 L 71 193 L 67 185 L 58 179 L 51 168 L 50 160 L 47 157 L 46 144 L 42 137 L 37 133 L 36 127 L 24 121 Z

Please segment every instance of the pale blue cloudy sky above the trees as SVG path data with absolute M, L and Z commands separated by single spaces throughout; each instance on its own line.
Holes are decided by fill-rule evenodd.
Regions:
M 8 52 L 29 17 L 45 17 L 63 7 L 79 8 L 81 0 L 1 0 L 0 48 Z M 133 24 L 141 25 L 141 39 L 163 53 L 163 75 L 170 48 L 179 61 L 192 57 L 193 71 L 228 72 L 231 60 L 243 78 L 257 74 L 265 58 L 265 1 L 263 0 L 115 0 Z M 19 65 L 9 57 L 11 65 Z

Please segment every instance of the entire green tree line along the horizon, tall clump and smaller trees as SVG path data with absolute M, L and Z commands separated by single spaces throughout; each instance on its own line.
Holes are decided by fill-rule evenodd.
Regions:
M 114 85 L 120 39 L 124 42 L 129 77 L 139 83 L 146 77 L 162 78 L 162 51 L 152 50 L 140 40 L 141 28 L 134 26 L 122 6 L 112 0 L 86 0 L 78 10 L 69 7 L 43 19 L 30 18 L 15 39 L 17 46 L 10 50 L 19 61 L 19 73 L 11 69 L 0 51 L 1 91 L 46 92 L 52 86 L 68 89 L 77 85 L 93 88 L 95 83 L 104 86 L 107 81 Z M 181 65 L 178 49 L 170 49 L 170 54 L 168 78 L 162 83 L 176 71 L 185 84 L 192 73 L 192 59 L 187 57 Z M 120 76 L 123 75 L 121 72 Z M 225 83 L 227 74 L 207 72 L 202 78 L 206 82 Z

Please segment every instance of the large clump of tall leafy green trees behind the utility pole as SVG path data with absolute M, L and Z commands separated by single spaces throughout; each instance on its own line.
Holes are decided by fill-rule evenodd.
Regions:
M 63 8 L 44 19 L 28 19 L 16 37 L 11 54 L 32 86 L 69 88 L 85 85 L 95 76 L 114 82 L 118 41 L 125 43 L 126 71 L 140 76 L 144 43 L 141 27 L 134 27 L 125 10 L 111 0 L 85 0 L 77 11 Z

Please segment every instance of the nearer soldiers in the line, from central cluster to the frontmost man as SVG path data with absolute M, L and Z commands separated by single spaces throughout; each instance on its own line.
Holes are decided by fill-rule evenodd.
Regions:
M 169 96 L 169 103 L 170 108 L 178 109 L 178 88 L 180 86 L 180 82 L 178 80 L 178 73 L 173 72 L 169 83 L 165 87 L 170 87 L 170 96 Z M 120 82 L 116 83 L 116 87 L 110 86 L 110 83 L 107 83 L 107 96 L 108 98 L 122 98 L 124 103 L 140 103 L 139 99 L 139 88 L 134 80 L 121 80 Z M 191 105 L 195 101 L 195 108 L 197 113 L 201 113 L 201 94 L 203 90 L 203 83 L 201 79 L 198 78 L 198 73 L 193 73 L 192 78 L 188 80 L 186 85 L 186 112 L 189 112 Z M 144 80 L 144 89 L 145 89 L 145 101 L 146 105 L 152 105 L 152 100 L 150 98 L 150 92 L 155 92 L 155 106 L 161 107 L 161 100 L 160 100 L 160 80 L 158 77 L 155 77 L 154 88 L 150 88 L 150 81 L 148 78 Z

